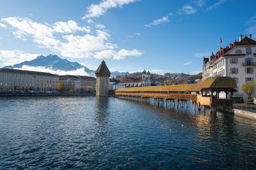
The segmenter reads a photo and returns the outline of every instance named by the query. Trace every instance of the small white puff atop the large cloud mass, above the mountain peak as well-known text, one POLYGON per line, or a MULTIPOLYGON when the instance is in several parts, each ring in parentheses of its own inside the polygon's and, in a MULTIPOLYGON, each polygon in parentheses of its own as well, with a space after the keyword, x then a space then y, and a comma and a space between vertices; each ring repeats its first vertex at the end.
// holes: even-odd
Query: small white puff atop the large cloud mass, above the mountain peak
POLYGON ((55 32, 61 33, 72 33, 76 31, 91 32, 90 27, 79 27, 74 20, 68 20, 68 22, 55 22, 53 29, 55 32))

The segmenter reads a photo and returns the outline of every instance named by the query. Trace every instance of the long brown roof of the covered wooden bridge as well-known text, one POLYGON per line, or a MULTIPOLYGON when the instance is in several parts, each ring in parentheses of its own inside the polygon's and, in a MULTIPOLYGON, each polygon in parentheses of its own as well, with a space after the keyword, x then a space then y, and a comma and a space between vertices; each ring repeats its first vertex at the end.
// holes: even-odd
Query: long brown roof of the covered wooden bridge
MULTIPOLYGON (((236 81, 230 77, 207 78, 202 83, 186 85, 163 85, 117 89, 115 92, 199 92, 202 89, 234 89, 236 81)), ((234 89, 235 90, 235 89, 234 89)))

